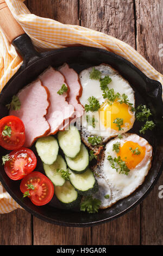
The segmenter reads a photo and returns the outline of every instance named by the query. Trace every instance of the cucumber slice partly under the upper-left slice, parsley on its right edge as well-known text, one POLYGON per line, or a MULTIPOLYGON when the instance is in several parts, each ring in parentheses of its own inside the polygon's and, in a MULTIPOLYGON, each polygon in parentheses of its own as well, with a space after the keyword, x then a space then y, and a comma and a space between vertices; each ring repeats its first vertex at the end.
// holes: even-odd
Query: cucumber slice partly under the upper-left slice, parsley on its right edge
POLYGON ((67 170, 66 162, 62 156, 58 155, 57 160, 53 164, 43 163, 43 169, 55 186, 64 185, 65 179, 57 172, 57 169, 67 170))

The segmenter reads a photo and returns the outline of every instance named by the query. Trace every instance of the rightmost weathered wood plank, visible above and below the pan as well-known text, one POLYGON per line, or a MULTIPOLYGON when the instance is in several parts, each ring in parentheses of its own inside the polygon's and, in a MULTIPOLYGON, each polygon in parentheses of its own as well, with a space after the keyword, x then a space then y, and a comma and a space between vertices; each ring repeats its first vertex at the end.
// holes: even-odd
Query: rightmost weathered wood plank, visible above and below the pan
MULTIPOLYGON (((136 0, 137 51, 154 68, 163 72, 163 57, 159 56, 159 45, 163 44, 162 0, 136 0)), ((141 204, 142 245, 163 244, 163 199, 159 198, 159 186, 163 184, 161 175, 154 190, 141 204)))

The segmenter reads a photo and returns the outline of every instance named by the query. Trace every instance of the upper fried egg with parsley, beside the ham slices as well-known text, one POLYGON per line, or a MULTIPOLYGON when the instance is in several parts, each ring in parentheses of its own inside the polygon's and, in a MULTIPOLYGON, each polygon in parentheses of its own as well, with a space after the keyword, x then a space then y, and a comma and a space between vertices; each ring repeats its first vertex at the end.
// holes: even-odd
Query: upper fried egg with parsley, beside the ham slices
MULTIPOLYGON (((95 66, 94 68, 101 71, 101 78, 104 78, 105 76, 111 78, 111 82, 108 84, 109 89, 114 89, 115 94, 119 93, 121 96, 123 94, 127 95, 128 101, 133 107, 135 106, 134 90, 118 71, 105 64, 95 66)), ((85 136, 101 136, 103 137, 103 141, 108 141, 109 138, 127 132, 133 127, 135 113, 131 111, 131 108, 127 103, 120 103, 115 100, 110 105, 108 99, 104 99, 103 97, 100 81, 90 78, 91 71, 92 67, 83 70, 79 74, 80 82, 83 87, 80 102, 83 106, 86 104, 89 105, 88 99, 93 96, 98 100, 100 108, 95 112, 85 111, 82 117, 82 131, 85 133, 85 136), (88 118, 90 118, 90 120, 94 118, 94 124, 88 121, 88 118), (115 123, 117 118, 123 119, 121 127, 115 123)))

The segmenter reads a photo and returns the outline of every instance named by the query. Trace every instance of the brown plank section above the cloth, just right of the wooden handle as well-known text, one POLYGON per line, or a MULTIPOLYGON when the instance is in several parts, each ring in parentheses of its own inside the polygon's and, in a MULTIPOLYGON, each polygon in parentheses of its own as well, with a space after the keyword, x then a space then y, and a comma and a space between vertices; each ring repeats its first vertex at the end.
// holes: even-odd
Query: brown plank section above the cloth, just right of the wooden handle
POLYGON ((28 0, 28 8, 35 15, 79 25, 78 0, 28 0))

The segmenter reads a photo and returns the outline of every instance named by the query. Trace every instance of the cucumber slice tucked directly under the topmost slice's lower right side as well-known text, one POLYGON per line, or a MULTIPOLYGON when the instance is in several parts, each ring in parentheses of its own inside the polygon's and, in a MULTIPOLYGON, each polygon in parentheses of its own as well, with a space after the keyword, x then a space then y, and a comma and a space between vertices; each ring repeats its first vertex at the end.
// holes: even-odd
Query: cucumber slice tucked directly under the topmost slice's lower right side
POLYGON ((89 153, 82 143, 80 151, 76 157, 71 159, 70 157, 65 156, 68 167, 76 173, 85 172, 86 168, 89 166, 89 153))

